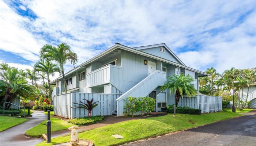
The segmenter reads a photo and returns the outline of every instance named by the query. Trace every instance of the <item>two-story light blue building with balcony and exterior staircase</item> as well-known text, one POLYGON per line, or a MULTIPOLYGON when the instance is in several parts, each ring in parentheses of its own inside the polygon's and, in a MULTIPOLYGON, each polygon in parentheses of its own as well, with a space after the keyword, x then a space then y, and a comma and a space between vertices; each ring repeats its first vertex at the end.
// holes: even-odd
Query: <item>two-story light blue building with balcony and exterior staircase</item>
MULTIPOLYGON (((197 56, 199 57, 199 56, 197 56)), ((91 99, 99 101, 93 115, 123 115, 124 99, 149 96, 156 99, 156 111, 174 104, 174 94, 160 92, 166 76, 189 74, 198 91, 198 77, 209 74, 186 66, 165 43, 142 47, 116 45, 65 73, 67 91, 64 93, 62 76, 51 84, 53 89, 54 114, 66 118, 86 116, 86 110, 70 108, 72 102, 91 99), (55 112, 56 111, 56 112, 55 112), (63 113, 65 112, 65 114, 63 113)))

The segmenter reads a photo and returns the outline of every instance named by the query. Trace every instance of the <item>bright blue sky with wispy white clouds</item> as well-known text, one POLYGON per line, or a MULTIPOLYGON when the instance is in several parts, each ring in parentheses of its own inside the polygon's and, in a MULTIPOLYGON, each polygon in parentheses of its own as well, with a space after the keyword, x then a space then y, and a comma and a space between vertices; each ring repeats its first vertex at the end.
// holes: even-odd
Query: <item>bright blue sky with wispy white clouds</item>
MULTIPOLYGON (((189 67, 256 66, 256 0, 0 0, 0 62, 32 69, 44 44, 68 43, 79 62, 120 42, 166 43, 189 67)), ((72 69, 66 65, 65 71, 72 69)))

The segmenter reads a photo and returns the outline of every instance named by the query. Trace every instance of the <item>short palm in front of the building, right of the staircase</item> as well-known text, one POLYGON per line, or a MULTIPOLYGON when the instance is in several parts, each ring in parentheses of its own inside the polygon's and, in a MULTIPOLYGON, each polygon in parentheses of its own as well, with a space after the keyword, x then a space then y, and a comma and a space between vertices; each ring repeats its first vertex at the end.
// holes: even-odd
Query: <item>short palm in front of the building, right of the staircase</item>
POLYGON ((166 89, 170 89, 170 94, 174 92, 175 94, 175 104, 176 106, 179 103, 180 96, 188 95, 189 97, 195 96, 197 91, 194 88, 192 82, 194 79, 187 75, 184 76, 183 74, 176 75, 174 74, 173 77, 167 77, 169 80, 165 82, 165 84, 160 88, 161 91, 165 91, 166 89))

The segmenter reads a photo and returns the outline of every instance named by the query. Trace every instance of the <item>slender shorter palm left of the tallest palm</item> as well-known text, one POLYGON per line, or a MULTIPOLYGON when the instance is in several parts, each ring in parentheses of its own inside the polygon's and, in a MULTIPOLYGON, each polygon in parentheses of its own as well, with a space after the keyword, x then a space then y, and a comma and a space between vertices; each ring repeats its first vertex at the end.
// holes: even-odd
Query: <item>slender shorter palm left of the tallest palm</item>
POLYGON ((55 72, 60 73, 60 68, 57 64, 54 64, 50 61, 38 61, 35 66, 34 70, 37 72, 45 73, 48 80, 49 86, 49 96, 50 96, 50 103, 52 104, 52 96, 51 96, 51 87, 50 87, 50 75, 54 76, 55 72))

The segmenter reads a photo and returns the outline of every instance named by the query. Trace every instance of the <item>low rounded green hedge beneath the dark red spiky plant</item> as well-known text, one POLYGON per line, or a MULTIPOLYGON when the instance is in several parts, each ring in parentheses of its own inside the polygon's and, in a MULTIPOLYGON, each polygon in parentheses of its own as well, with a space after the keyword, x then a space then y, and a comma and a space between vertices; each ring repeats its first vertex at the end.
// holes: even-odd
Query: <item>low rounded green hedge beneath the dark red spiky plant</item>
POLYGON ((68 120, 68 123, 76 124, 76 125, 89 125, 97 122, 101 122, 104 120, 104 116, 91 116, 91 117, 83 117, 68 120))

